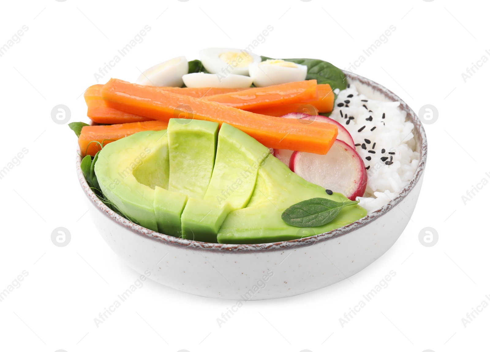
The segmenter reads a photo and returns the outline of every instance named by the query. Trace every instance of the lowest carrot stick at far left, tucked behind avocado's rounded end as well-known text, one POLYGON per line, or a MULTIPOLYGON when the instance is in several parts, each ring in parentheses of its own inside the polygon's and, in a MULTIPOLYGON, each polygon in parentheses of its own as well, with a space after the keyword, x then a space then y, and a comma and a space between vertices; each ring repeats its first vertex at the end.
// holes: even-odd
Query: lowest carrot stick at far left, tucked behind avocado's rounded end
POLYGON ((82 156, 94 156, 107 143, 141 131, 159 131, 167 128, 164 121, 133 122, 118 125, 83 126, 78 145, 82 156))

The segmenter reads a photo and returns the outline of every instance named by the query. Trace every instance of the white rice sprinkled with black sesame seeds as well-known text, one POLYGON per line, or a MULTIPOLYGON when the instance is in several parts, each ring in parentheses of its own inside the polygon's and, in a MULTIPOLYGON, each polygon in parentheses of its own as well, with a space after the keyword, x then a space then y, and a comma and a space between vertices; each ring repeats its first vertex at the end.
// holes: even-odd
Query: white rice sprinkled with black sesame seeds
POLYGON ((364 197, 358 197, 357 200, 369 214, 391 201, 414 176, 420 157, 419 153, 414 151, 414 125, 405 121, 407 113, 398 108, 398 101, 368 99, 359 94, 353 84, 343 91, 336 90, 335 93, 338 97, 330 118, 340 122, 352 135, 357 145, 356 151, 368 169, 366 192, 364 197), (350 95, 352 97, 348 97, 350 95), (343 106, 338 106, 342 103, 343 106), (349 117, 354 119, 350 119, 347 124, 349 117), (372 121, 369 121, 370 117, 372 121), (359 132, 363 126, 365 127, 359 132), (371 131, 373 127, 376 128, 371 131), (363 144, 366 149, 363 148, 363 144), (369 150, 375 153, 369 153, 369 150), (383 161, 382 157, 386 160, 383 161))

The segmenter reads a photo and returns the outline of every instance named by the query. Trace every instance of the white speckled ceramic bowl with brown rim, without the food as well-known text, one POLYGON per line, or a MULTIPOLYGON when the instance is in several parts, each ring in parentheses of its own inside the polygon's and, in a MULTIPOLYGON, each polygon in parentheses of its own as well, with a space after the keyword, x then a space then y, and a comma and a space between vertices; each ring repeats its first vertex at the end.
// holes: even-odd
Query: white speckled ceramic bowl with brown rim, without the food
POLYGON ((422 186, 427 159, 425 132, 414 111, 381 85, 346 73, 349 83, 371 99, 400 101, 414 125, 420 153, 415 176, 390 203, 336 230, 293 241, 227 245, 183 240, 138 226, 105 206, 76 168, 100 235, 138 273, 194 295, 264 300, 317 290, 350 277, 379 258, 407 225, 422 186))

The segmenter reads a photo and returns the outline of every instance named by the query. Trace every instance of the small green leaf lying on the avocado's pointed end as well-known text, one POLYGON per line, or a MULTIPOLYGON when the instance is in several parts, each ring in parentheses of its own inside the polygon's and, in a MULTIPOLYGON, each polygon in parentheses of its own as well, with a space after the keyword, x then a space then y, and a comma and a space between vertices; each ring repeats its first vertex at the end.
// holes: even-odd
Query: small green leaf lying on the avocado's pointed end
POLYGON ((358 201, 332 201, 326 198, 312 198, 291 205, 281 215, 291 226, 316 227, 334 220, 344 206, 355 205, 358 201))

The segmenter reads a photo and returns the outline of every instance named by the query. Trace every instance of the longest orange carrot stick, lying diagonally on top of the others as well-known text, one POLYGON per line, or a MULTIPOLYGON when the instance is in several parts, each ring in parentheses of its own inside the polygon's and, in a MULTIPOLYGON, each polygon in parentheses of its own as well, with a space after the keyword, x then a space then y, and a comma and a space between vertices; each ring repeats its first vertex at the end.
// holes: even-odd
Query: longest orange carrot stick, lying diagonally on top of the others
POLYGON ((188 118, 227 123, 269 148, 326 154, 338 133, 331 124, 254 114, 114 78, 102 88, 102 97, 112 108, 165 122, 187 114, 188 118))

